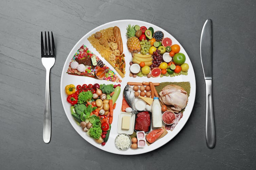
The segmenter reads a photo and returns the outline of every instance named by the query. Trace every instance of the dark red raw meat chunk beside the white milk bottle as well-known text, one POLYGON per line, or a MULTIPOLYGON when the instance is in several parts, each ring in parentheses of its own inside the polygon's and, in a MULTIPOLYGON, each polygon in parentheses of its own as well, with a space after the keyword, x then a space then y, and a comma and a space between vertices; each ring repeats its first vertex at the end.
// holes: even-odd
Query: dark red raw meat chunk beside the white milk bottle
POLYGON ((135 130, 137 131, 149 131, 150 115, 148 112, 140 112, 137 114, 135 121, 135 130))

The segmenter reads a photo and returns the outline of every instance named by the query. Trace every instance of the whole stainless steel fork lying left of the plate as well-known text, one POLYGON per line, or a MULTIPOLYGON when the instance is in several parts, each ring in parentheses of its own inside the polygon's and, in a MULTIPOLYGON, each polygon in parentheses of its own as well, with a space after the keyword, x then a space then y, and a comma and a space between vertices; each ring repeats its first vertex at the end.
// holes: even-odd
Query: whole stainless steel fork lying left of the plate
POLYGON ((50 87, 49 87, 49 77, 50 70, 55 63, 55 46, 52 33, 52 48, 50 41, 50 34, 48 31, 48 43, 46 31, 44 32, 44 43, 43 47, 43 32, 41 32, 41 59, 42 64, 46 69, 46 83, 45 83, 45 101, 44 101, 44 115, 43 115, 43 141, 49 143, 51 139, 51 102, 50 102, 50 87), (48 47, 47 47, 48 44, 48 47))

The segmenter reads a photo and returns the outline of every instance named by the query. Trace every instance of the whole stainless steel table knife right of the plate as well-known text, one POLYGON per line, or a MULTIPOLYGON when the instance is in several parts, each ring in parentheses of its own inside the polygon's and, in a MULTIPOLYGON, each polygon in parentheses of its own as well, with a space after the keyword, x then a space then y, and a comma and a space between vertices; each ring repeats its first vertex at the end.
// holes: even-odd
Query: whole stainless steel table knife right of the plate
POLYGON ((205 135, 208 148, 215 146, 215 124, 213 112, 213 96, 212 96, 212 60, 213 60, 213 44, 212 44, 212 20, 207 19, 204 23, 201 41, 201 62, 204 72, 205 89, 206 89, 206 124, 205 135))

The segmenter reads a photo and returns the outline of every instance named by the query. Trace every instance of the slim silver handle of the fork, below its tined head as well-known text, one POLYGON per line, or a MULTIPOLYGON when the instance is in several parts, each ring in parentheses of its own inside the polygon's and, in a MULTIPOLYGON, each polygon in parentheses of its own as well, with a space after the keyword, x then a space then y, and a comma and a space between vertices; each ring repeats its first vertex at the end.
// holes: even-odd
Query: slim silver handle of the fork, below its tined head
POLYGON ((43 141, 49 143, 51 139, 51 102, 49 87, 50 69, 46 69, 45 101, 43 115, 43 141))

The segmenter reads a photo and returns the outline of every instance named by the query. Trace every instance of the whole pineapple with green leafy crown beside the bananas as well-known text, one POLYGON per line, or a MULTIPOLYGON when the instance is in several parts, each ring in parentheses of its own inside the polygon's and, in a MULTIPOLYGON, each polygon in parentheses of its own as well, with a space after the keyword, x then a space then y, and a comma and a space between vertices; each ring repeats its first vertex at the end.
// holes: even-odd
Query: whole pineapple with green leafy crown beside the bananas
POLYGON ((136 31, 134 26, 131 26, 131 24, 129 24, 126 30, 127 30, 126 36, 128 37, 128 40, 127 40, 128 50, 131 53, 138 53, 141 50, 141 45, 140 45, 140 40, 137 37, 135 37, 136 31))

